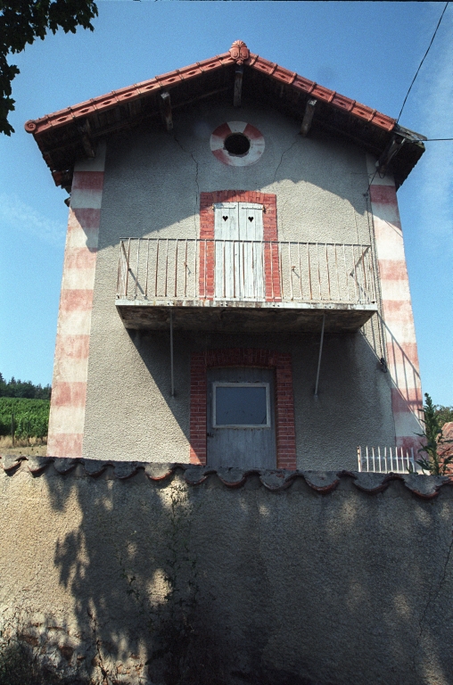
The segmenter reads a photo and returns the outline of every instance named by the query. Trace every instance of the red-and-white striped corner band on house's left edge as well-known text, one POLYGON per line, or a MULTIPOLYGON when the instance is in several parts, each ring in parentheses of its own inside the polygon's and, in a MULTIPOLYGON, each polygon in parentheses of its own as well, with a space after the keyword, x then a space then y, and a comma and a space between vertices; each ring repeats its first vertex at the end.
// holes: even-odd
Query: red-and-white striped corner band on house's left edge
POLYGON ((81 457, 105 144, 74 169, 58 312, 47 454, 81 457))

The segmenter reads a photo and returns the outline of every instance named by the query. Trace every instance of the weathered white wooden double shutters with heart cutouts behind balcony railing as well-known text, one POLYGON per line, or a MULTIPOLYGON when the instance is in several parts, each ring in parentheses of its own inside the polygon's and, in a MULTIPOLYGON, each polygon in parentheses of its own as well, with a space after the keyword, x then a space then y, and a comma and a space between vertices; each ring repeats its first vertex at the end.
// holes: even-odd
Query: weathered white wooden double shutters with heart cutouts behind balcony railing
POLYGON ((214 205, 215 296, 263 300, 263 207, 252 202, 214 205))

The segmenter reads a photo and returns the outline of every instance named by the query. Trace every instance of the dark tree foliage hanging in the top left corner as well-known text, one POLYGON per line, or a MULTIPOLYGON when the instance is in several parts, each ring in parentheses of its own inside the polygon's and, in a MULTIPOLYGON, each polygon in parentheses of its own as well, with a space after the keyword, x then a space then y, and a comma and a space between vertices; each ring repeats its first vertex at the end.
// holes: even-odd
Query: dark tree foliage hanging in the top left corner
POLYGON ((94 0, 0 0, 0 133, 14 132, 8 114, 14 110, 12 79, 20 72, 8 55, 21 53, 36 38, 44 40, 47 30, 75 33, 81 26, 93 31, 95 16, 94 0))

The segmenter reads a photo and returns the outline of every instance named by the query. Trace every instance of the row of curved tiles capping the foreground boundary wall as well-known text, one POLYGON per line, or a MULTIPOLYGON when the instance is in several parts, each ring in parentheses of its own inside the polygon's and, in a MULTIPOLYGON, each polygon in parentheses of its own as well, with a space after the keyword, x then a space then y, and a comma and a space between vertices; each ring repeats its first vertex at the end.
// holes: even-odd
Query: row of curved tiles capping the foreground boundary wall
MULTIPOLYGON (((16 457, 0 456, 0 466, 8 475, 14 475, 22 466, 32 475, 41 475, 48 466, 54 466, 56 474, 70 474, 76 466, 81 466, 85 474, 95 478, 111 467, 110 477, 119 481, 127 480, 144 472, 153 482, 169 480, 177 470, 184 474, 189 485, 200 485, 209 475, 217 475, 218 480, 227 488, 240 488, 253 475, 259 476, 260 483, 269 491, 284 491, 295 480, 302 479, 309 488, 321 494, 333 492, 342 478, 352 478, 352 482, 362 492, 377 494, 386 490, 393 481, 400 481, 422 499, 437 497, 444 485, 453 485, 448 476, 431 476, 416 474, 369 474, 352 471, 287 471, 284 469, 261 470, 240 468, 210 468, 194 464, 168 463, 160 464, 148 461, 102 461, 86 458, 61 457, 16 457)), ((79 472, 78 472, 79 473, 79 472)))

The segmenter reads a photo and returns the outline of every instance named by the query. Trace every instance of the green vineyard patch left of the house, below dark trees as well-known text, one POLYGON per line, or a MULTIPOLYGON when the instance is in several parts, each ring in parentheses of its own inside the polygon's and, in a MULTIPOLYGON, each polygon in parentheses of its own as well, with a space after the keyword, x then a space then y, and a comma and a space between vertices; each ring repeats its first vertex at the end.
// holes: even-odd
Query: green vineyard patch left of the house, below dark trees
POLYGON ((0 397, 0 435, 11 435, 12 414, 16 438, 44 438, 49 427, 50 400, 0 397))

